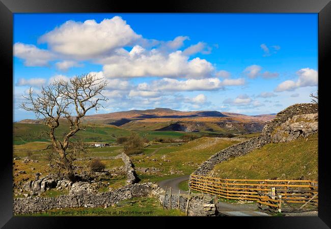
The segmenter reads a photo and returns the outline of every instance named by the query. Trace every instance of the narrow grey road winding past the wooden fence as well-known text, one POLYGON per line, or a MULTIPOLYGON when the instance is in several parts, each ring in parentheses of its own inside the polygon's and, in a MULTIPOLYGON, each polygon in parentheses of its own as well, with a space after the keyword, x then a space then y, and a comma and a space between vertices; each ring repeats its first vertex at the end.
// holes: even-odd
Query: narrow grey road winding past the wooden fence
MULTIPOLYGON (((161 188, 171 187, 172 193, 178 193, 179 183, 189 179, 189 175, 171 178, 163 181, 159 181, 158 185, 161 188)), ((181 193, 187 193, 180 190, 181 193)), ((264 212, 256 211, 256 204, 230 204, 225 202, 218 202, 217 210, 220 215, 224 216, 268 216, 264 212)))

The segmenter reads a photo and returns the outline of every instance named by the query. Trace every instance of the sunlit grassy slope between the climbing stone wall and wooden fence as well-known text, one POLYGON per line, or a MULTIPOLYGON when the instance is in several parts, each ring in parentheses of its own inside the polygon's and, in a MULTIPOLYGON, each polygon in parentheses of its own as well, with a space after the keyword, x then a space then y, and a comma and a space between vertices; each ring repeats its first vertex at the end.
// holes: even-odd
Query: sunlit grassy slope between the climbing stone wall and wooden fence
POLYGON ((217 164, 215 177, 231 179, 318 180, 318 135, 267 144, 253 152, 217 164))

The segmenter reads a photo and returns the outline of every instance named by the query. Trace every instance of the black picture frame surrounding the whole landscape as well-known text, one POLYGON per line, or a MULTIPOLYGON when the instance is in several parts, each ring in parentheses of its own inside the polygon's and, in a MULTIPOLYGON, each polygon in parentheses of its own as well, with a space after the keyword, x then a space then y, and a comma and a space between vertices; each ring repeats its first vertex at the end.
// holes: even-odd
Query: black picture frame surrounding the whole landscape
MULTIPOLYGON (((8 150, 3 147, 0 159, 2 170, 1 176, 1 213, 0 226, 3 228, 65 228, 69 222, 75 221, 75 227, 80 224, 86 227, 94 223, 94 227, 100 226, 101 221, 107 227, 117 223, 136 223, 144 227, 172 226, 169 220, 181 220, 184 223, 195 224, 202 221, 209 226, 215 223, 218 226, 229 225, 243 226, 244 228, 330 228, 331 227, 331 204, 330 204, 330 166, 327 150, 327 78, 330 77, 329 63, 331 53, 331 3, 329 0, 222 0, 222 1, 192 1, 177 0, 163 2, 127 2, 127 1, 102 1, 102 0, 0 0, 0 63, 2 65, 3 82, 3 146, 8 145, 8 150), (319 73, 319 141, 318 141, 318 171, 319 171, 319 211, 318 217, 149 217, 143 220, 140 217, 109 218, 109 217, 13 217, 12 214, 12 131, 13 123, 9 120, 8 107, 13 106, 5 95, 5 89, 13 85, 13 13, 124 13, 124 12, 155 12, 155 13, 318 13, 318 73, 319 73), (7 86, 8 85, 8 86, 7 86), (6 124, 6 125, 4 125, 6 124), (325 137, 326 136, 326 137, 325 137), (8 139, 8 140, 6 140, 8 139), (11 150, 11 152, 10 152, 11 150), (91 218, 93 220, 91 220, 91 218), (97 222, 96 222, 97 220, 97 222), (154 222, 151 222, 154 221, 154 222), (111 224, 109 224, 111 223, 111 224), (156 223, 156 224, 155 224, 156 223)), ((8 96, 9 97, 9 96, 8 96)), ((14 108, 14 107, 13 107, 14 108)), ((174 226, 176 226, 175 224, 174 226)), ((118 225, 120 226, 120 225, 118 225)), ((186 226, 186 225, 185 225, 186 226)))

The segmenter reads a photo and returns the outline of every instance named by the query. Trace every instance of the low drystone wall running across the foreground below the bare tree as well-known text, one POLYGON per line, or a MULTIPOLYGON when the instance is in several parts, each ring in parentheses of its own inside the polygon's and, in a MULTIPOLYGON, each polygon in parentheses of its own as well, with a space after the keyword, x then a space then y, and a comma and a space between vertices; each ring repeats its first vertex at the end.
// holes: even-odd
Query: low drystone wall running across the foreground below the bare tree
POLYGON ((50 209, 63 209, 63 208, 106 208, 123 199, 133 197, 148 196, 155 188, 152 183, 131 184, 126 185, 120 189, 93 193, 89 191, 89 185, 83 184, 84 188, 79 188, 82 184, 77 182, 73 185, 74 192, 69 195, 61 195, 57 197, 40 197, 30 196, 26 198, 16 198, 13 200, 13 213, 14 214, 27 214, 31 212, 44 212, 50 209))

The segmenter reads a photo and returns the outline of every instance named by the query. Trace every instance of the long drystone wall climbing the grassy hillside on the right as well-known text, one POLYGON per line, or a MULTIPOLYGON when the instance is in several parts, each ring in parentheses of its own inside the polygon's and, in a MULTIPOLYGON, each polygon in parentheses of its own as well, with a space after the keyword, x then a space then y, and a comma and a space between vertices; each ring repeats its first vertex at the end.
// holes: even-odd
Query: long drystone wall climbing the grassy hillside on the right
POLYGON ((192 174, 206 176, 219 162, 228 160, 231 157, 245 155, 247 153, 250 153, 254 149, 260 148, 270 143, 272 140, 271 135, 275 128, 279 127, 281 124, 287 122, 288 120, 291 120, 294 116, 314 113, 318 113, 317 104, 298 103, 289 106, 286 109, 280 111, 272 121, 266 123, 260 136, 240 142, 212 155, 208 160, 203 162, 192 174))

